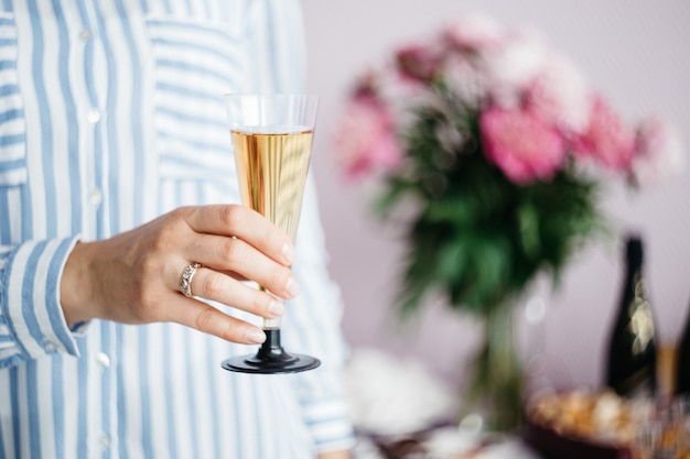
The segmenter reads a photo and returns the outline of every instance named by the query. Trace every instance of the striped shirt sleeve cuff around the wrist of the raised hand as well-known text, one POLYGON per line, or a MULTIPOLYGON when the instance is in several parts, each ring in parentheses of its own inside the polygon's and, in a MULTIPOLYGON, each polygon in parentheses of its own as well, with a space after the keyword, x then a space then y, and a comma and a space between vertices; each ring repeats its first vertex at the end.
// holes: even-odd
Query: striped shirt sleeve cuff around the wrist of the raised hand
POLYGON ((60 303, 76 238, 0 247, 0 368, 64 352, 78 356, 60 303))

